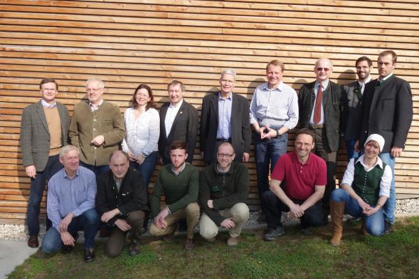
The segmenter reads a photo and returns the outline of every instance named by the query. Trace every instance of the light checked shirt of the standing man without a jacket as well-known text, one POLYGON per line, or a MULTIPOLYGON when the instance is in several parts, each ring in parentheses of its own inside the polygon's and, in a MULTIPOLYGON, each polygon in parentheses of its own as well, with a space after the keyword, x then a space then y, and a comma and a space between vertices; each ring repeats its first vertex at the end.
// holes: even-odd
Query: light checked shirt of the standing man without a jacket
POLYGON ((269 89, 267 82, 256 87, 250 103, 250 123, 259 126, 286 126, 292 129, 298 123, 297 93, 281 82, 269 89))

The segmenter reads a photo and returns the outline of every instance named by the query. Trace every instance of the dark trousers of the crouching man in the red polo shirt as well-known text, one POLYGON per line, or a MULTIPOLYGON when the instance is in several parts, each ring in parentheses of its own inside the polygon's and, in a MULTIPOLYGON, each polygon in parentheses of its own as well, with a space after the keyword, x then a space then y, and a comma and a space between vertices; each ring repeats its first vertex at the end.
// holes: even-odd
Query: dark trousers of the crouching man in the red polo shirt
MULTIPOLYGON (((268 190, 263 193, 263 212, 265 212, 267 227, 274 229, 281 227, 281 216, 282 211, 288 212, 290 208, 281 202, 281 199, 277 197, 272 191, 268 190)), ((295 204, 303 204, 304 200, 291 199, 295 204)), ((307 227, 318 226, 323 224, 323 208, 321 202, 317 202, 313 206, 309 207, 304 211, 304 215, 300 217, 301 227, 305 229, 307 227)))

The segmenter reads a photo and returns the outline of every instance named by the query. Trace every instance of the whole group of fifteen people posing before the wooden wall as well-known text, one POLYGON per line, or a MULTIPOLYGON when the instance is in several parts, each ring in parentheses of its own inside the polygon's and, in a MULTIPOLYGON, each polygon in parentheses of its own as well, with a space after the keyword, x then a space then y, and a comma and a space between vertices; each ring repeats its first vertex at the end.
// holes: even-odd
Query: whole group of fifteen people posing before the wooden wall
POLYGON ((235 246, 249 218, 249 161, 253 130, 258 193, 267 222, 266 241, 284 234, 281 213, 300 218, 302 233, 328 223, 330 214, 338 246, 344 212, 362 217, 363 232, 392 232, 395 211, 395 158, 400 156, 413 118, 409 83, 396 77, 397 55, 378 55, 378 78, 372 61, 355 62, 358 80, 340 86, 329 80, 333 66, 318 59, 316 80, 299 94, 282 82, 284 64, 267 63, 267 82, 248 100, 233 93, 235 71, 223 70, 220 90, 203 98, 200 152, 206 167, 193 166, 198 112, 184 100, 185 86, 168 84, 170 102, 156 110, 152 89, 135 89, 124 117, 103 100, 104 84, 86 82, 87 99, 69 116, 56 102, 58 84, 41 81, 41 100, 22 114, 20 146, 31 178, 27 210, 28 246, 38 247, 40 203, 48 182, 44 252, 69 252, 84 230, 84 260, 94 259, 94 237, 110 227, 108 257, 117 257, 131 231, 128 252, 140 250, 143 224, 151 214, 150 234, 170 240, 186 219, 185 250, 194 247, 194 229, 214 241, 219 227, 229 230, 235 246), (287 153, 288 131, 300 123, 295 151, 287 153), (337 151, 346 142, 348 168, 335 189, 337 151), (150 178, 163 167, 147 195, 150 178), (269 176, 271 180, 269 181, 269 176), (164 205, 161 199, 164 196, 164 205), (202 213, 200 213, 202 211, 202 213))

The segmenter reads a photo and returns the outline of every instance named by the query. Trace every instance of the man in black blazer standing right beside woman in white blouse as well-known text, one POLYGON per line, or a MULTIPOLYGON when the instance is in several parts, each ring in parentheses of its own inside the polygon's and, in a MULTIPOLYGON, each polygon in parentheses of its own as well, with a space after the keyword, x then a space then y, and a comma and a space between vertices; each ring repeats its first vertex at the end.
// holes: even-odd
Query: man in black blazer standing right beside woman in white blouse
POLYGON ((163 165, 170 163, 170 144, 186 142, 186 161, 192 163, 193 151, 198 137, 198 111, 183 99, 185 86, 178 80, 168 84, 170 103, 164 103, 160 108, 159 153, 163 165))

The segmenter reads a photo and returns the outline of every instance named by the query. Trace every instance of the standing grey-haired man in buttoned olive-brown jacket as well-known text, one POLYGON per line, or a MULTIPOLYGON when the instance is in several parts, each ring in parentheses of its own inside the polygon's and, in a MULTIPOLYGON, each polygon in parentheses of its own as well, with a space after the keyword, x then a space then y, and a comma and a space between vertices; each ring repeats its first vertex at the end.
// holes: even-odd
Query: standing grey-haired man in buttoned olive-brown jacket
POLYGON ((125 128, 119 107, 103 100, 104 84, 98 78, 86 82, 87 100, 75 105, 71 117, 71 144, 80 150, 80 165, 96 176, 109 169, 110 153, 119 149, 125 128))

